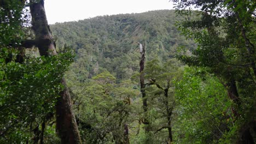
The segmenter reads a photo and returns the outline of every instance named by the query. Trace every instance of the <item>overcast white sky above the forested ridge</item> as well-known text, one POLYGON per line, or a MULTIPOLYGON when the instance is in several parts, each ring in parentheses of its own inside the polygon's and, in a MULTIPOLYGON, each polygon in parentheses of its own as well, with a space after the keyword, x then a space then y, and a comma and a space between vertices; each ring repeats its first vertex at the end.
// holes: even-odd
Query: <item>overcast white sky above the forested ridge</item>
POLYGON ((169 0, 45 0, 49 24, 77 21, 100 15, 142 13, 172 9, 169 0))

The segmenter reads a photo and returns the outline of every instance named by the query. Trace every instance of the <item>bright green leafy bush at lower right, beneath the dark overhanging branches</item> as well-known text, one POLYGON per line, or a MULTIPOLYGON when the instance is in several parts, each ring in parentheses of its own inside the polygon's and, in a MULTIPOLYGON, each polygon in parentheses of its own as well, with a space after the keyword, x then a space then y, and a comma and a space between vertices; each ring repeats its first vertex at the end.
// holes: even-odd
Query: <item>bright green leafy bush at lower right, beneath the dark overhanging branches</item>
POLYGON ((175 92, 179 115, 174 124, 177 143, 218 143, 226 129, 234 127, 225 88, 205 69, 185 68, 175 92))

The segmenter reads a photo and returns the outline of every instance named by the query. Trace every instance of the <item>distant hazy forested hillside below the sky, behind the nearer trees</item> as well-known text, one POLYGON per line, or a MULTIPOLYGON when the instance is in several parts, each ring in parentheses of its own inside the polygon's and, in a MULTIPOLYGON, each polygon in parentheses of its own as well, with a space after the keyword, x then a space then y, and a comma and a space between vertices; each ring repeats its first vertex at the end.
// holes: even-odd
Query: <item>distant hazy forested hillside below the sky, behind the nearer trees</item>
POLYGON ((174 58, 178 46, 195 48, 193 41, 185 40, 175 27, 175 23, 182 19, 174 10, 158 10, 98 16, 50 27, 57 46, 67 44, 75 49, 77 57, 72 69, 80 81, 98 74, 98 67, 106 68, 118 80, 123 80, 138 71, 137 43, 145 43, 148 60, 174 58))

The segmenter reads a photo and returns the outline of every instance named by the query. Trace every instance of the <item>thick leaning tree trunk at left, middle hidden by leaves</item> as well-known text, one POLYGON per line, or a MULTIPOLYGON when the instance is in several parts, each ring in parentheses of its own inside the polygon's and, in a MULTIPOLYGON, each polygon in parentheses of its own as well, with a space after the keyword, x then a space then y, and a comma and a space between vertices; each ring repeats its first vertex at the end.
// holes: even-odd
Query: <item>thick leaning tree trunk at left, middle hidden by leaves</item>
MULTIPOLYGON (((55 43, 51 35, 50 28, 46 19, 44 10, 44 1, 30 1, 30 10, 32 15, 32 29, 36 35, 36 46, 39 49, 41 56, 57 55, 55 43)), ((61 97, 56 104, 56 124, 57 132, 61 137, 61 143, 82 143, 77 123, 72 112, 72 101, 69 95, 66 81, 63 78, 61 81, 65 89, 60 93, 61 97)))

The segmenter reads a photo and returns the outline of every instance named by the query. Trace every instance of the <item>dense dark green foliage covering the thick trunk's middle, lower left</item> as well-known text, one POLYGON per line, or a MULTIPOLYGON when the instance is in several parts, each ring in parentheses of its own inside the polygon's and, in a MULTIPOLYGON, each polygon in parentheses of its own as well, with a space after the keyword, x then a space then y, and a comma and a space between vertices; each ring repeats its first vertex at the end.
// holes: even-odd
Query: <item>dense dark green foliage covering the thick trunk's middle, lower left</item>
POLYGON ((72 56, 62 53, 26 59, 22 64, 5 63, 8 50, 1 50, 0 141, 21 143, 32 136, 28 128, 31 124, 41 123, 48 113, 55 111, 57 97, 63 89, 60 83, 63 71, 72 62, 72 56), (22 137, 13 136, 19 136, 19 131, 22 137))

